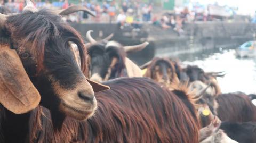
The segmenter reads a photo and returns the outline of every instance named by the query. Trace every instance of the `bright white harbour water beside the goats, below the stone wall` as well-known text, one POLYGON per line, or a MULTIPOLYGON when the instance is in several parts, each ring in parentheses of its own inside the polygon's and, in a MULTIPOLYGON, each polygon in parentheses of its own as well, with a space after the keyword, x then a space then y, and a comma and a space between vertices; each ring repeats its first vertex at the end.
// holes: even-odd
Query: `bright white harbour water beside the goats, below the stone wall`
POLYGON ((256 58, 238 59, 234 49, 192 57, 194 59, 190 58, 189 61, 182 60, 183 63, 198 65, 206 72, 225 71, 225 77, 217 79, 223 93, 236 91, 246 94, 256 93, 256 58))

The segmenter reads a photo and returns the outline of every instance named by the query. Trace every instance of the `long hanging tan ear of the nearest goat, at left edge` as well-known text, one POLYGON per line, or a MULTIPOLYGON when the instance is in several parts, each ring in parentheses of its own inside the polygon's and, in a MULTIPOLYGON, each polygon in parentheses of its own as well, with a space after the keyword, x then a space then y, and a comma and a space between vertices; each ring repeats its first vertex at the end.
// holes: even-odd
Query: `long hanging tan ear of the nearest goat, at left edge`
POLYGON ((0 103, 15 114, 36 108, 41 96, 30 81, 15 50, 1 46, 0 103))

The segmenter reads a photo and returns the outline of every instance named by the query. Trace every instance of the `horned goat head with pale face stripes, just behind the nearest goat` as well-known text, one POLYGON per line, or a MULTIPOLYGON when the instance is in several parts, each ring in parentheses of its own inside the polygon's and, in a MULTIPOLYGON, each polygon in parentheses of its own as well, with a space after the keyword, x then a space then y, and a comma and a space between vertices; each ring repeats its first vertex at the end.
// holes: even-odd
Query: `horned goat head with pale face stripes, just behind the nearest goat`
MULTIPOLYGON (((91 45, 88 47, 89 68, 85 75, 94 81, 107 81, 119 77, 142 77, 140 68, 126 57, 126 53, 140 51, 149 43, 123 46, 116 41, 95 41, 88 31, 86 36, 91 45)), ((106 39, 106 38, 105 38, 106 39)), ((108 38, 107 38, 108 39, 108 38)))

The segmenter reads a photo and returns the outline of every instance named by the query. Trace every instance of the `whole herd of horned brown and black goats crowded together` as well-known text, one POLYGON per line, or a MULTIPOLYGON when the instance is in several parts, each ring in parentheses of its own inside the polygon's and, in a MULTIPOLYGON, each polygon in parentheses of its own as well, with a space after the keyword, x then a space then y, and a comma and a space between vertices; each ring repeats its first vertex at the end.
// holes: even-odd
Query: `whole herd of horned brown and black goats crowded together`
POLYGON ((61 20, 83 6, 0 14, 0 142, 256 142, 256 95, 221 94, 217 77, 169 58, 137 66, 113 35, 61 20))

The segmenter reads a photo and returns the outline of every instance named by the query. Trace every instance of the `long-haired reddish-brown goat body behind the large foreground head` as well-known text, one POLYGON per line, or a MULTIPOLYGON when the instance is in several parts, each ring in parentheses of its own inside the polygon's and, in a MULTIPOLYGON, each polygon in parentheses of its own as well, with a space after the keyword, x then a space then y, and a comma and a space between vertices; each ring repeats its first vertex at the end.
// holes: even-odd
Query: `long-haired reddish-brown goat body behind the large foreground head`
MULTIPOLYGON (((95 94, 98 110, 90 119, 77 121, 66 117, 62 128, 55 130, 49 110, 37 107, 30 112, 28 133, 23 134, 24 138, 27 142, 46 143, 198 142, 199 122, 185 92, 171 92, 148 78, 121 78, 105 84, 111 89, 95 94)), ((12 122, 25 120, 25 117, 17 115, 10 119, 5 111, 0 112, 7 114, 1 116, 5 129, 2 134, 6 137, 6 130, 11 131, 5 142, 20 142, 13 138, 13 132, 20 129, 12 126, 12 122)))

